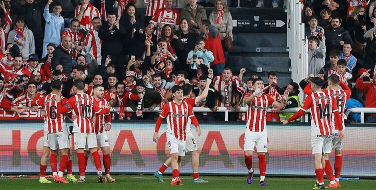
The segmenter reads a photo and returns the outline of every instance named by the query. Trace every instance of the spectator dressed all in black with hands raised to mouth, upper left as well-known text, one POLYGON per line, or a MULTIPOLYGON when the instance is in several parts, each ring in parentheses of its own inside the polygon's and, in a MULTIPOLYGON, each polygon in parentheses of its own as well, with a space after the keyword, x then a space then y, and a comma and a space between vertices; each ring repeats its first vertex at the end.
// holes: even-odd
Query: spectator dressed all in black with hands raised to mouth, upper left
MULTIPOLYGON (((116 20, 115 12, 107 13, 107 22, 105 22, 98 32, 99 38, 102 39, 101 55, 102 57, 111 56, 111 62, 115 65, 116 75, 119 78, 124 77, 125 60, 128 59, 124 54, 124 43, 121 39, 125 34, 124 27, 116 20)), ((102 64, 104 64, 102 59, 102 64)))

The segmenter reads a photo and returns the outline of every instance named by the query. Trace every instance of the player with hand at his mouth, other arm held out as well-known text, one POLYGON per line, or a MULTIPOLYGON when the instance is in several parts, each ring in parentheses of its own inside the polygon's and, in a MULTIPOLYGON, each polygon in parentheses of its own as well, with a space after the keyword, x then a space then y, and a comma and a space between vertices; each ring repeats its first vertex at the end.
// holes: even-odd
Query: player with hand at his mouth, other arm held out
POLYGON ((247 110, 247 124, 244 137, 244 157, 246 166, 248 168, 247 183, 253 182, 253 168, 252 168, 252 154, 256 146, 257 154, 259 157, 260 168, 260 186, 268 186, 265 182, 266 174, 266 157, 267 150, 267 131, 266 131, 266 113, 269 106, 280 108, 286 106, 288 98, 288 91, 282 96, 282 102, 275 101, 272 97, 263 94, 264 81, 261 78, 256 78, 252 81, 253 89, 252 94, 248 93, 244 96, 244 103, 248 105, 247 110))

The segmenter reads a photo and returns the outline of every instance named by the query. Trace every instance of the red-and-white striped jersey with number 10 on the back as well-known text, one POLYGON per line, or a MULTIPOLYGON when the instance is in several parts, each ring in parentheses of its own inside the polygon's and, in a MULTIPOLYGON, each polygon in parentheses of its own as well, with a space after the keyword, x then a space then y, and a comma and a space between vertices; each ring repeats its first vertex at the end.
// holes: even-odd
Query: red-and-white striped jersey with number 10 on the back
POLYGON ((93 111, 97 114, 109 112, 107 108, 99 107, 94 97, 86 93, 79 93, 70 97, 63 109, 65 109, 63 111, 72 110, 73 115, 77 115, 77 119, 74 120, 73 132, 81 133, 95 132, 93 111))

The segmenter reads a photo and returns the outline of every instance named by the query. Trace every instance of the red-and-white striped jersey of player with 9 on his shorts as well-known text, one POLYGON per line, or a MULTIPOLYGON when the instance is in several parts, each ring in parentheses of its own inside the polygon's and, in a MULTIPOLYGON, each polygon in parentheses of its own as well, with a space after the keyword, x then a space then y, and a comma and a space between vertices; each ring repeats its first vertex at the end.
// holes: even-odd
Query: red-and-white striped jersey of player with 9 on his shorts
POLYGON ((188 124, 188 118, 195 116, 192 106, 185 101, 177 104, 172 100, 164 104, 160 117, 167 117, 167 130, 166 132, 175 135, 176 139, 185 141, 185 130, 188 124))

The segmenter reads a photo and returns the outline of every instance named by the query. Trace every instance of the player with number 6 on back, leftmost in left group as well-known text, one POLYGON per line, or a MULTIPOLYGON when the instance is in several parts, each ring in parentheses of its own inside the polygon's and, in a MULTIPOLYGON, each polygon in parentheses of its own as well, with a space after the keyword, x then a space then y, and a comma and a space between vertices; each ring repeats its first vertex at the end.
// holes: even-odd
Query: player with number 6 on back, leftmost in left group
MULTIPOLYGON (((65 168, 68 165, 68 153, 70 149, 69 137, 67 126, 65 124, 65 115, 59 112, 58 101, 56 96, 60 96, 63 84, 59 80, 51 82, 52 92, 48 95, 40 97, 37 101, 37 105, 43 106, 45 109, 45 124, 47 126, 47 139, 49 147, 51 148, 51 168, 56 182, 68 183, 63 176, 65 168), (62 153, 60 159, 60 168, 57 172, 57 154, 59 149, 62 153)), ((66 103, 67 98, 62 98, 61 101, 66 103)), ((47 148, 46 148, 47 150, 47 148)), ((42 166, 41 166, 42 167, 42 166)), ((43 182, 43 179, 42 179, 43 182)))

